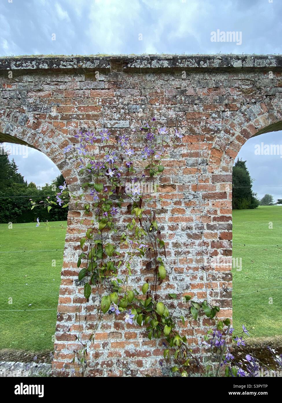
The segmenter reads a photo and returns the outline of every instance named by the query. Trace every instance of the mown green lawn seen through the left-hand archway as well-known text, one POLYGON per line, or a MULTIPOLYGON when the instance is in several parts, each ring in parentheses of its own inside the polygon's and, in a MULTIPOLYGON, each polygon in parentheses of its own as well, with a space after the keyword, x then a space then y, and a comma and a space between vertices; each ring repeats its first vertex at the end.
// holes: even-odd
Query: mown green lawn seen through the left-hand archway
POLYGON ((0 224, 0 310, 9 310, 0 312, 0 349, 53 349, 66 233, 61 223, 66 226, 50 222, 49 231, 35 223, 0 224))

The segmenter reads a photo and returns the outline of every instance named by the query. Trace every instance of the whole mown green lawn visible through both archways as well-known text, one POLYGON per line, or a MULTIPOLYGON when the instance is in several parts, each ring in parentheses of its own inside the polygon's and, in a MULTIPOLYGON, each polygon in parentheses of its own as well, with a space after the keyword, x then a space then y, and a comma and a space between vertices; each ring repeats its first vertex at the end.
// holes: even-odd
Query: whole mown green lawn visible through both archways
MULTIPOLYGON (((49 232, 35 223, 0 224, 0 310, 26 309, 1 312, 0 349, 53 349, 65 239, 60 224, 51 222, 49 232)), ((233 211, 233 256, 242 258, 241 272, 233 269, 233 321, 253 337, 282 334, 281 235, 282 207, 233 211)))

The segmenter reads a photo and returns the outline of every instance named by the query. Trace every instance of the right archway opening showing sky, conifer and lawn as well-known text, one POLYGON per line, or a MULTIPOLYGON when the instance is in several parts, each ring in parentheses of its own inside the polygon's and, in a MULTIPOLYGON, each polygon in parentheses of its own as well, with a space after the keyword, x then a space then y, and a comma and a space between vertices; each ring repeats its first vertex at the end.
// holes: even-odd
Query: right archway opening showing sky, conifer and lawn
POLYGON ((241 148, 235 166, 242 168, 245 161, 253 179, 250 185, 242 178, 239 189, 233 166, 233 197, 238 197, 241 190, 242 195, 250 197, 252 191, 259 200, 257 208, 244 203, 238 208, 238 202, 233 209, 233 325, 241 331, 244 324, 251 337, 262 338, 263 343, 282 335, 281 129, 282 122, 261 129, 241 148))

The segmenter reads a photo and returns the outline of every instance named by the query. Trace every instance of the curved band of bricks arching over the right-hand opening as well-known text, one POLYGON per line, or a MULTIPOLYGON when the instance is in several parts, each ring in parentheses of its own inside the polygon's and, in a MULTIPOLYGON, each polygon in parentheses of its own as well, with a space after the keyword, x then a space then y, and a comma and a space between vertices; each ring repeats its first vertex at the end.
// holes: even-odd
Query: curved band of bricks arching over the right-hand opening
POLYGON ((281 96, 243 105, 232 119, 224 122, 220 136, 216 137, 210 153, 210 170, 232 173, 234 160, 248 139, 279 130, 282 130, 281 96))

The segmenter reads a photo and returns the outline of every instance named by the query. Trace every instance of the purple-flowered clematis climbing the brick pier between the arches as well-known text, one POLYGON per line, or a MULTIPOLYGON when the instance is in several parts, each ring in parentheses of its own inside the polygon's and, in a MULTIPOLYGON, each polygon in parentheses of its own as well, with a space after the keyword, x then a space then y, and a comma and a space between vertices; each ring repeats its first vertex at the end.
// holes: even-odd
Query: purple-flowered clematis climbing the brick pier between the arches
MULTIPOLYGON (((155 118, 152 119, 154 121, 155 118)), ((97 321, 92 324, 90 337, 86 341, 81 334, 76 337, 81 349, 76 351, 74 361, 78 361, 83 374, 87 375, 88 345, 95 340, 103 315, 110 312, 123 316, 128 324, 137 322, 140 326, 146 325, 148 339, 162 338, 164 359, 172 359, 174 364, 172 372, 186 377, 191 364, 196 364, 203 371, 202 364, 187 345, 186 337, 177 331, 174 313, 179 304, 170 312, 167 301, 159 300, 158 288, 167 276, 166 249, 157 220, 159 198, 156 193, 147 192, 148 188, 155 189, 157 186, 154 181, 158 182, 158 177, 165 170, 162 162, 181 141, 181 131, 176 129, 172 135, 166 127, 157 128, 154 123, 151 126, 146 123, 139 132, 134 131, 134 149, 130 148, 127 135, 111 136, 105 128, 101 128, 97 135, 81 130, 74 137, 79 143, 68 145, 64 153, 78 161, 80 175, 85 178, 82 185, 84 193, 78 196, 71 194, 69 198, 64 183, 60 186, 56 203, 48 198, 43 201, 49 212, 54 204, 65 208, 75 200, 76 206, 80 203, 84 215, 90 218, 90 225, 80 239, 81 253, 77 267, 81 270, 78 280, 84 283, 86 312, 91 293, 96 293, 101 303, 97 307, 97 321), (127 212, 124 221, 121 219, 124 217, 124 214, 121 216, 122 210, 127 212), (127 224, 122 227, 120 222, 127 224), (144 258, 149 259, 152 274, 134 287, 131 282, 134 268, 144 258)), ((37 206, 35 202, 31 203, 32 208, 37 206)), ((40 220, 37 221, 39 226, 40 220)), ((171 293, 169 299, 176 300, 177 295, 171 293)), ((185 295, 185 303, 194 320, 202 313, 214 319, 216 330, 208 331, 204 344, 209 349, 217 348, 214 362, 221 364, 225 360, 225 364, 230 363, 231 359, 223 356, 228 348, 230 320, 218 319, 216 314, 220 308, 210 305, 208 299, 197 302, 185 295)), ((179 318, 185 324, 184 317, 178 315, 179 318)), ((86 314, 85 325, 87 322, 86 314)), ((226 376, 240 375, 237 367, 226 368, 230 368, 226 376)))

